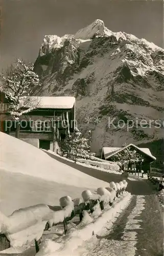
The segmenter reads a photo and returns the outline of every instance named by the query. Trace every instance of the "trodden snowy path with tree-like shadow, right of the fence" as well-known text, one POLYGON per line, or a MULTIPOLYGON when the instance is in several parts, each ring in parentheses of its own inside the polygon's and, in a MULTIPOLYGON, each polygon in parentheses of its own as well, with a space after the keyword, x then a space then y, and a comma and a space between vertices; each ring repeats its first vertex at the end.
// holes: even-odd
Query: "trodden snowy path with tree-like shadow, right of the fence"
POLYGON ((162 256, 163 221, 155 195, 133 196, 112 229, 79 247, 80 256, 162 256))

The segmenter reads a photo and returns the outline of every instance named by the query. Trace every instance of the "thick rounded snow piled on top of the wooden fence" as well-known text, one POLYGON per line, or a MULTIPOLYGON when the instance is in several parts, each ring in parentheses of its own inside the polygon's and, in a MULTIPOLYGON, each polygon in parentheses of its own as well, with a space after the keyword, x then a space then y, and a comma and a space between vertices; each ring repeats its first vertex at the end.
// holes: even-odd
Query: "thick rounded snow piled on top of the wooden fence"
MULTIPOLYGON (((114 185, 115 183, 111 182, 111 184, 114 185)), ((124 187, 123 182, 122 184, 124 187)), ((113 190, 114 193, 117 191, 117 189, 115 191, 112 188, 111 190, 113 190)), ((109 202, 111 203, 114 200, 111 190, 109 191, 108 188, 103 187, 99 187, 97 189, 97 198, 99 198, 100 202, 108 205, 109 202)), ((84 190, 81 195, 85 203, 89 203, 88 201, 96 196, 92 195, 90 190, 84 190)), ((75 199, 75 202, 80 202, 80 200, 82 199, 75 199)), ((53 224, 63 222, 64 218, 71 217, 72 212, 75 211, 74 201, 70 196, 61 197, 59 202, 61 208, 63 208, 62 210, 53 211, 52 206, 49 207, 46 204, 38 204, 15 210, 12 215, 8 217, 0 212, 0 232, 5 234, 7 239, 10 241, 11 247, 21 247, 31 243, 33 240, 38 241, 42 237, 42 233, 47 222, 50 227, 52 227, 53 224)), ((104 207, 102 209, 100 204, 96 202, 93 209, 92 217, 98 217, 102 215, 101 210, 103 210, 104 207)), ((77 215, 77 211, 75 215, 77 215)))

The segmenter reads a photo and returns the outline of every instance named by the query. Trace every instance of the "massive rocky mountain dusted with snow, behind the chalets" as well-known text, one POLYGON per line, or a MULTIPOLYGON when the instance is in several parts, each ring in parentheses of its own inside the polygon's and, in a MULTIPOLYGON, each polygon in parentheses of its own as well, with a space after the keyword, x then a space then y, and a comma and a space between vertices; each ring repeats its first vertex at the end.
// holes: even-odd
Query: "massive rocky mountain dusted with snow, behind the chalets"
POLYGON ((92 151, 163 137, 164 50, 153 43, 97 19, 75 35, 45 36, 34 68, 44 96, 76 97, 92 151))

